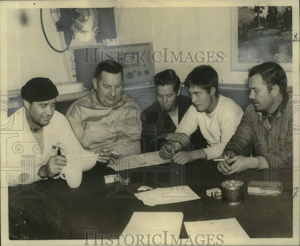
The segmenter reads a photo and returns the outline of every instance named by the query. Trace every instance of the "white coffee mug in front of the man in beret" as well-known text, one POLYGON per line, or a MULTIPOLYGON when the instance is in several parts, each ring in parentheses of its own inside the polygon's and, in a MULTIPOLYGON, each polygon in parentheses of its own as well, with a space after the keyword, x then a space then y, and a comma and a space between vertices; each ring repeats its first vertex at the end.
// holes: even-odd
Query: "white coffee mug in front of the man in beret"
POLYGON ((67 184, 70 186, 70 188, 77 188, 81 184, 82 169, 78 166, 65 166, 59 176, 67 181, 67 184))

